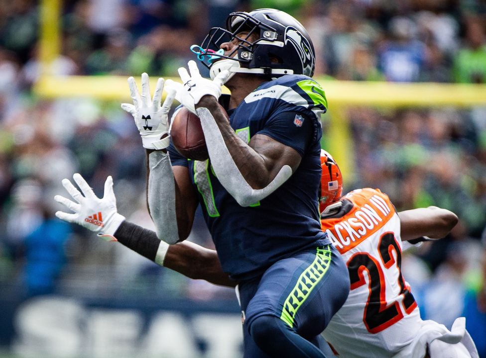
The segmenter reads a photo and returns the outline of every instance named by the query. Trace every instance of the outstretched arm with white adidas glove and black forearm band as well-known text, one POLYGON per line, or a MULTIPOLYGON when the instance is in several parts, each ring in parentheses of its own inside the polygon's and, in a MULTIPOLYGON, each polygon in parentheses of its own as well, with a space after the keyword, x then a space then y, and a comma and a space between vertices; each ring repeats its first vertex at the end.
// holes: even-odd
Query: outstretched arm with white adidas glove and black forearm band
POLYGON ((58 211, 56 216, 59 219, 81 225, 97 233, 105 241, 119 241, 156 264, 187 277, 229 287, 236 285, 236 282, 223 272, 216 251, 190 242, 168 245, 159 240, 154 231, 125 221, 117 210, 112 177, 106 180, 102 199, 95 195, 81 175, 75 174, 73 177, 84 195, 69 179, 63 179, 62 184, 74 201, 61 195, 56 195, 54 199, 74 213, 58 211))

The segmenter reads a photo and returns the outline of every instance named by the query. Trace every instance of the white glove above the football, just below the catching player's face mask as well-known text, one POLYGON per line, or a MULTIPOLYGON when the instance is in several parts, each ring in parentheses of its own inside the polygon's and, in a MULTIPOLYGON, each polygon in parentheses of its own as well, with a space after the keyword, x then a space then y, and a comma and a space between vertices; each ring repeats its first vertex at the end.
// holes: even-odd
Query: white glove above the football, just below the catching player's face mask
MULTIPOLYGON (((208 94, 218 99, 221 96, 221 87, 230 73, 228 70, 221 71, 218 76, 211 81, 201 76, 195 61, 189 61, 187 66, 189 67, 191 75, 187 73, 187 70, 184 67, 181 67, 178 70, 184 87, 181 89, 180 84, 175 85, 174 87, 178 90, 177 100, 191 112, 197 114, 194 105, 198 104, 201 98, 208 94)), ((169 87, 173 88, 173 84, 174 82, 171 81, 169 87)))

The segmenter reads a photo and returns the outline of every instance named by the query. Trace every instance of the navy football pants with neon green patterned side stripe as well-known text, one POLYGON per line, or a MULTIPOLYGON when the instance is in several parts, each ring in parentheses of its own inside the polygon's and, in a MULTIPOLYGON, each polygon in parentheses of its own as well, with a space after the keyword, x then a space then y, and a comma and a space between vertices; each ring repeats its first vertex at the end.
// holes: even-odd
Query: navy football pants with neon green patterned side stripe
POLYGON ((318 335, 349 291, 348 269, 332 245, 302 251, 241 281, 243 358, 324 358, 318 335))

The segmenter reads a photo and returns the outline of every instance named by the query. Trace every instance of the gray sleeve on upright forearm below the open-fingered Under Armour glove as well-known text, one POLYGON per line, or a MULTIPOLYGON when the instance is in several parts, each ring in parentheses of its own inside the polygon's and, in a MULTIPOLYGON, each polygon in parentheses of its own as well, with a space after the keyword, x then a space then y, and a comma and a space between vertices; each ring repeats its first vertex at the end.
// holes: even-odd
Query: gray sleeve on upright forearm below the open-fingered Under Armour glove
POLYGON ((150 174, 148 177, 148 207, 155 224, 155 232, 167 244, 179 241, 175 214, 174 173, 169 155, 154 151, 148 155, 150 174))

